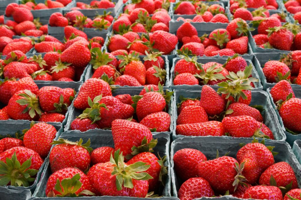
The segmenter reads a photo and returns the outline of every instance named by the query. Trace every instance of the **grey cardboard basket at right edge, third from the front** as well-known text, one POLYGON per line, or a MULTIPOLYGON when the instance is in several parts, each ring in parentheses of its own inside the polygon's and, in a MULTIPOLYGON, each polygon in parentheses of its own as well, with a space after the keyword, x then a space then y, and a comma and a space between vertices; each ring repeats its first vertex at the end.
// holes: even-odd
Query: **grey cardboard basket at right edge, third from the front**
MULTIPOLYGON (((283 54, 287 55, 290 51, 279 51, 279 52, 269 52, 269 53, 254 53, 253 64, 258 72, 259 78, 262 82, 263 89, 272 88, 276 83, 268 83, 266 77, 263 74, 262 68, 265 63, 269 60, 279 60, 283 54)), ((292 88, 299 88, 301 85, 291 84, 292 88)))

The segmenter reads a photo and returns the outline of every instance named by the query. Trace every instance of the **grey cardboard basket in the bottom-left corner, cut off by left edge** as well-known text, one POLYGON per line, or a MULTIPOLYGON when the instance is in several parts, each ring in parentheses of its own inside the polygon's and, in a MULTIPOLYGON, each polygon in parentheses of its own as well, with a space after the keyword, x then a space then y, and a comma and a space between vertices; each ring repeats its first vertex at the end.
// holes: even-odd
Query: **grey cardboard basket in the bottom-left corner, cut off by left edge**
MULTIPOLYGON (((27 120, 5 120, 0 123, 0 129, 2 130, 0 135, 7 136, 11 135, 14 137, 15 132, 22 131, 23 129, 30 128, 30 121, 27 120)), ((63 132, 63 126, 61 123, 48 123, 55 127, 57 130, 56 137, 57 139, 61 133, 63 132)), ((36 174, 36 180, 29 187, 15 187, 15 186, 0 186, 0 195, 1 199, 4 200, 12 200, 12 199, 20 199, 26 200, 30 197, 31 192, 36 189, 37 184, 39 183, 41 176, 43 174, 43 170, 45 168, 46 163, 48 162, 48 158, 45 158, 44 163, 36 174)))

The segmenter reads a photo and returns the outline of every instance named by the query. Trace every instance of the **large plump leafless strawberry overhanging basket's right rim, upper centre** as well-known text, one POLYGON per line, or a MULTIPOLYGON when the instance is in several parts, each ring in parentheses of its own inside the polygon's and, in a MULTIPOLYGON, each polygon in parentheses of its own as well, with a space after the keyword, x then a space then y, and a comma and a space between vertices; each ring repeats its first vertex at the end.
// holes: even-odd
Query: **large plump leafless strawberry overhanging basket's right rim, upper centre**
POLYGON ((153 48, 163 52, 164 55, 169 54, 175 49, 178 43, 177 36, 165 32, 165 31, 155 31, 150 36, 151 44, 154 43, 153 48))

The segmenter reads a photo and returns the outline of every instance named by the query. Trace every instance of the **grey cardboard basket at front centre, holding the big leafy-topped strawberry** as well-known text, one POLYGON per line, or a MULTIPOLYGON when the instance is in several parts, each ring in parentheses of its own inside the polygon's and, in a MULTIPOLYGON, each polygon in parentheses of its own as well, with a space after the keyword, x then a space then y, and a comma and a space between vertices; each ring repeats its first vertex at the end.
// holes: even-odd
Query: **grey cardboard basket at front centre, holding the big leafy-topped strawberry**
MULTIPOLYGON (((67 131, 64 132, 60 138, 64 138, 67 139, 69 141, 79 141, 80 138, 83 139, 83 143, 87 142, 88 139, 90 138, 91 140, 91 145, 90 147, 92 147, 93 149, 98 148, 98 147, 103 147, 103 146, 109 146, 109 147, 113 147, 114 148, 114 142, 113 142, 113 136, 111 133, 102 133, 99 132, 99 130, 94 129, 94 130, 90 130, 85 132, 84 134, 82 134, 81 132, 75 132, 75 131, 67 131)), ((158 144, 156 145, 156 147, 154 147, 154 154, 157 155, 157 153, 159 153, 160 157, 163 157, 166 155, 166 162, 165 162, 165 166, 167 166, 168 168, 168 174, 166 177, 166 182, 165 182, 165 187, 163 188, 163 191, 160 195, 164 196, 161 197, 159 199, 163 199, 163 200, 167 200, 167 199, 173 199, 173 198, 167 198, 171 196, 171 177, 170 177, 170 159, 169 159, 169 147, 170 147, 170 138, 169 138, 169 134, 166 132, 162 132, 162 133, 157 133, 153 135, 153 138, 157 138, 158 139, 158 144)), ((46 195, 45 195, 45 189, 46 189, 46 183, 48 180, 48 177, 51 175, 51 169, 50 169, 50 165, 49 162, 47 163, 47 166, 45 167, 44 173, 42 174, 41 180, 38 183, 35 192, 32 195, 32 199, 46 199, 46 195)), ((58 199, 71 199, 68 197, 64 197, 64 198, 59 198, 59 197, 51 197, 51 198, 47 198, 47 199, 54 199, 54 200, 58 200, 58 199)), ((73 198, 72 198, 73 199, 73 198)), ((96 200, 96 199, 124 199, 124 200, 132 200, 132 199, 142 199, 142 198, 132 198, 132 197, 112 197, 112 196, 101 196, 101 197, 78 197, 78 199, 83 199, 83 200, 96 200)), ((145 199, 145 198, 143 198, 145 199)))

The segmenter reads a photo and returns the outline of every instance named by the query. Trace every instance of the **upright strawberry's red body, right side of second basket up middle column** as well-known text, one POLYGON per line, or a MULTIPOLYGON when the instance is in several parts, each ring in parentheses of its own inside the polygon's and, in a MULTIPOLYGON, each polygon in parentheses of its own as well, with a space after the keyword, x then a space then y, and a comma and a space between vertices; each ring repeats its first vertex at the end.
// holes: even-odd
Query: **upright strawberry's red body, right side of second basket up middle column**
POLYGON ((141 121, 149 114, 161 112, 166 106, 164 97, 159 92, 147 92, 138 102, 136 113, 141 121))

